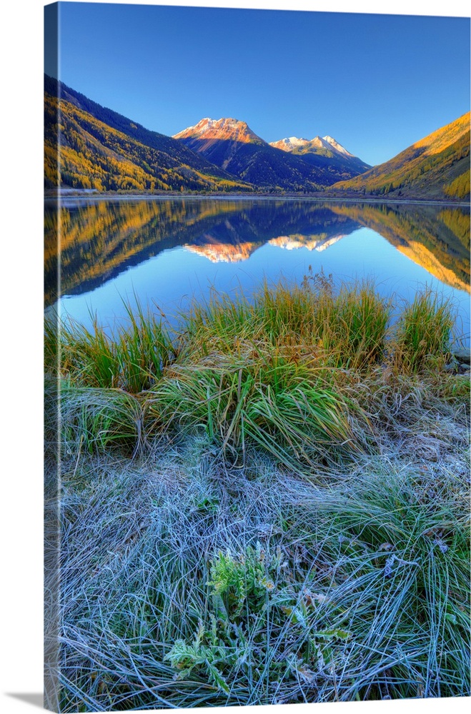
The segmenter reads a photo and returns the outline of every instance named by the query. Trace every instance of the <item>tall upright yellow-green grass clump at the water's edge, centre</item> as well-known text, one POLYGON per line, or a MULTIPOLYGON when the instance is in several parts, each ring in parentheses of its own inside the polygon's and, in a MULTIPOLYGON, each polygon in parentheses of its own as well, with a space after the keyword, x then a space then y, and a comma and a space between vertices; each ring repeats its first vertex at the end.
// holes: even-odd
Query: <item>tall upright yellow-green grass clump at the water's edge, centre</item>
POLYGON ((219 352, 239 354, 257 346, 284 350, 292 360, 324 366, 365 368, 385 349, 390 303, 370 283, 334 293, 332 276, 309 273, 301 286, 264 283, 252 301, 213 293, 192 306, 181 328, 182 358, 194 361, 219 352))

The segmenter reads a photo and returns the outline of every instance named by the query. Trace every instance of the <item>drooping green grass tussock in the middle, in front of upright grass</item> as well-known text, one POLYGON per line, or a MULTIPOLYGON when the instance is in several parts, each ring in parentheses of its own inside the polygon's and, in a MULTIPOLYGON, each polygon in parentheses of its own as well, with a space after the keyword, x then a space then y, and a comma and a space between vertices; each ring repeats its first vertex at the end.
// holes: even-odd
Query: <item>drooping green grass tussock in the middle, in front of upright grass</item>
POLYGON ((152 390, 148 408, 162 426, 202 428, 232 460, 258 446, 299 470, 336 448, 351 453, 365 446, 349 421, 362 417, 360 408, 319 371, 289 361, 277 348, 257 360, 220 356, 174 366, 152 390))

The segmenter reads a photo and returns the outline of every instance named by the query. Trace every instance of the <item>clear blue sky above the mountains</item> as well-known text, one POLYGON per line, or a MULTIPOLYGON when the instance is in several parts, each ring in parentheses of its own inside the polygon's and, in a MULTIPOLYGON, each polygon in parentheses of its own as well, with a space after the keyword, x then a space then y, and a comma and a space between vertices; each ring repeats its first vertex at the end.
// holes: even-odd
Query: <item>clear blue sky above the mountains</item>
POLYGON ((232 116, 379 164, 470 109, 466 18, 86 3, 59 18, 59 79, 162 134, 232 116))

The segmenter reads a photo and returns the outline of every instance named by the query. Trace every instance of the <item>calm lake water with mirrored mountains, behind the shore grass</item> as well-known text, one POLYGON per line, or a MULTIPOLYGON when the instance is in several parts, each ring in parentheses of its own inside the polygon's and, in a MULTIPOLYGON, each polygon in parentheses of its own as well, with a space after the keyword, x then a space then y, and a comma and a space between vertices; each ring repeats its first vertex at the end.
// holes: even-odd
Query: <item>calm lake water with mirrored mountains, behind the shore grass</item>
POLYGON ((297 199, 62 198, 46 205, 46 306, 90 326, 126 318, 124 302, 167 316, 212 289, 253 293, 263 278, 372 278, 410 301, 451 298, 470 332, 470 211, 432 204, 297 199), (59 216, 59 218, 56 218, 59 216), (59 226, 58 226, 59 223, 59 226), (56 246, 60 243, 58 287, 56 246))

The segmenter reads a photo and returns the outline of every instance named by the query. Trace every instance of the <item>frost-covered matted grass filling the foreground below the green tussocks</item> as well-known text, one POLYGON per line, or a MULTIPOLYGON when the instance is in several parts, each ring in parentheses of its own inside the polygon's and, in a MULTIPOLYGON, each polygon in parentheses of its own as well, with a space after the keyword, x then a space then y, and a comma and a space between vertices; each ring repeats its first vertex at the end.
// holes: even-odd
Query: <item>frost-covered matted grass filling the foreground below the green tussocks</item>
POLYGON ((61 710, 469 695, 467 431, 440 420, 312 482, 201 439, 69 459, 61 710))

